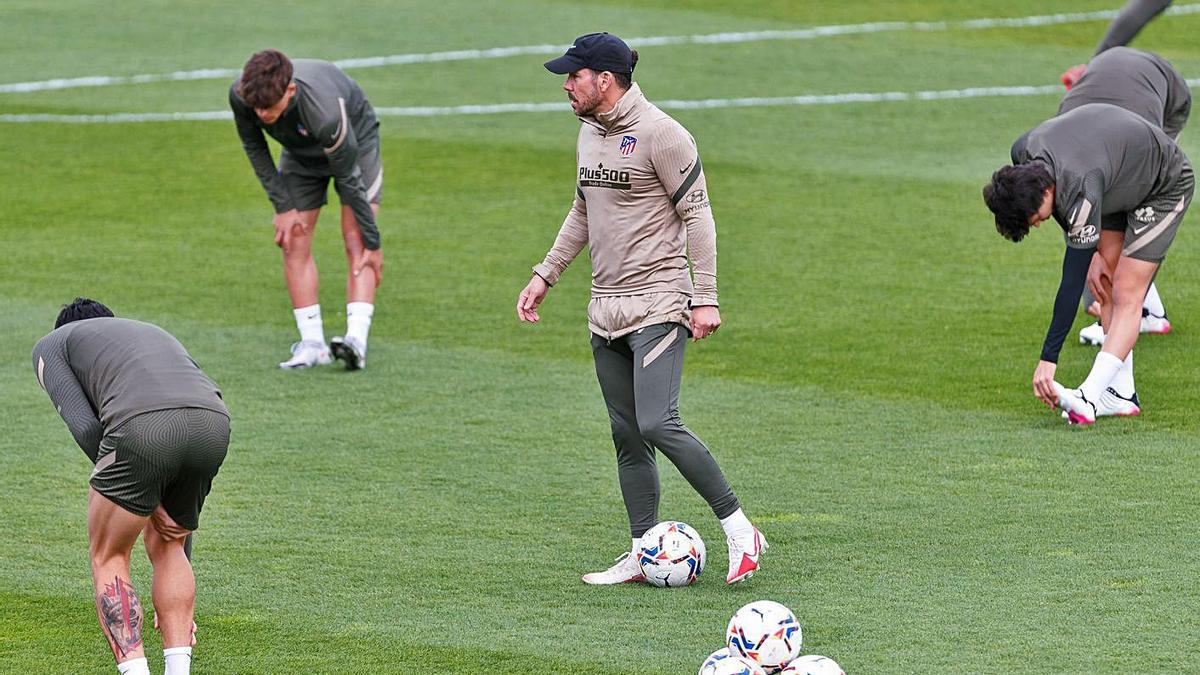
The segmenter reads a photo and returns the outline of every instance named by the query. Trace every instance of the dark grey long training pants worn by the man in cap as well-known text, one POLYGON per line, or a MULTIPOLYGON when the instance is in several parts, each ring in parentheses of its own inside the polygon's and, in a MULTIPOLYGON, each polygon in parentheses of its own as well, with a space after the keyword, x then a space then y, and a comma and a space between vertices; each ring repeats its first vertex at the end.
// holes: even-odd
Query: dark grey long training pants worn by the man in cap
POLYGON ((688 329, 678 323, 650 325, 612 341, 592 335, 596 378, 608 407, 617 474, 634 537, 644 534, 659 519, 655 449, 676 465, 718 518, 739 508, 708 447, 679 419, 688 338, 688 329))

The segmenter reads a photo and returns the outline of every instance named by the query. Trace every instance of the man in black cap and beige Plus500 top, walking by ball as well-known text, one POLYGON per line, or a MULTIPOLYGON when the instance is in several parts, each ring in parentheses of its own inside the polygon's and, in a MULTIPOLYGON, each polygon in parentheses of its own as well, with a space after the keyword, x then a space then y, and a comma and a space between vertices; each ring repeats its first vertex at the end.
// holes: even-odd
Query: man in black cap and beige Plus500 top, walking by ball
MULTIPOLYGON (((658 449, 721 520, 732 584, 754 574, 767 542, 678 410, 689 334, 702 340, 721 324, 716 225, 695 141, 646 100, 632 82, 636 64, 637 52, 607 32, 581 36, 546 62, 566 76, 563 89, 582 123, 575 202, 516 311, 521 321, 536 322, 547 289, 590 247, 588 327, 632 548, 658 522, 658 449)), ((588 584, 641 579, 634 555, 583 577, 588 584)))

